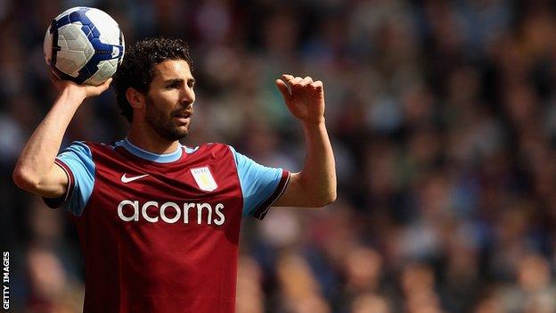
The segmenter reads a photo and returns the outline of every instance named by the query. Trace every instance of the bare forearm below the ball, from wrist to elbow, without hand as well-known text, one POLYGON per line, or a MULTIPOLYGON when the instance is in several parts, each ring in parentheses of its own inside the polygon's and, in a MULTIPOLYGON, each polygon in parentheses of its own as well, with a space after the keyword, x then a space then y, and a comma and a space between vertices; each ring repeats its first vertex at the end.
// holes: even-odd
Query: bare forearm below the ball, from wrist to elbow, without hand
POLYGON ((51 172, 66 128, 82 102, 80 95, 71 94, 68 89, 61 90, 51 110, 20 152, 14 177, 23 177, 38 184, 51 172))

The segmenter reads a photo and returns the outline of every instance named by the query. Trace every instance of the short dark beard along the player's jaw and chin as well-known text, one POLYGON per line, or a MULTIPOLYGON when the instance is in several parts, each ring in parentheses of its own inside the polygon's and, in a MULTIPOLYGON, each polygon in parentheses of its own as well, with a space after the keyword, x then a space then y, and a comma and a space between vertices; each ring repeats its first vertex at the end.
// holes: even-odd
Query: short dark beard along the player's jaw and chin
POLYGON ((183 139, 189 133, 189 125, 187 127, 176 125, 174 119, 172 119, 172 113, 168 115, 160 111, 148 96, 145 107, 147 124, 162 138, 168 141, 176 141, 183 139))

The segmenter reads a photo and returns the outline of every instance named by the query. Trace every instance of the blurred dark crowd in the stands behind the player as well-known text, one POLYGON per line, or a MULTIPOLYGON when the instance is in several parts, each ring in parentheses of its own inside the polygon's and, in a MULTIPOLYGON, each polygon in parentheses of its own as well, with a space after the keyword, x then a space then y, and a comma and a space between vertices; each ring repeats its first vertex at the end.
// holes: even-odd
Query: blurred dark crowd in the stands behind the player
MULTIPOLYGON (((53 101, 45 29, 76 5, 109 12, 128 45, 190 43, 184 144, 298 170, 302 132, 274 78, 323 79, 338 201, 245 220, 238 312, 556 311, 553 2, 4 0, 0 243, 14 311, 81 305, 75 230, 11 180, 53 101)), ((79 109, 64 145, 126 129, 110 91, 79 109)))

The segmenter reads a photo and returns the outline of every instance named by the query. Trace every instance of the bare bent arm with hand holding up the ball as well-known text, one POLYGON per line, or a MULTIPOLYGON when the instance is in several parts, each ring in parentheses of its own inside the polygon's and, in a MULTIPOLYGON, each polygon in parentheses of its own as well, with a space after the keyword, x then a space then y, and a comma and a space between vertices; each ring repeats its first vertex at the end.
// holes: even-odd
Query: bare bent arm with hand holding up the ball
POLYGON ((20 152, 13 182, 29 193, 45 197, 60 197, 68 187, 68 177, 54 159, 61 140, 79 105, 90 96, 100 95, 110 86, 111 78, 101 86, 81 86, 51 75, 59 95, 20 152))

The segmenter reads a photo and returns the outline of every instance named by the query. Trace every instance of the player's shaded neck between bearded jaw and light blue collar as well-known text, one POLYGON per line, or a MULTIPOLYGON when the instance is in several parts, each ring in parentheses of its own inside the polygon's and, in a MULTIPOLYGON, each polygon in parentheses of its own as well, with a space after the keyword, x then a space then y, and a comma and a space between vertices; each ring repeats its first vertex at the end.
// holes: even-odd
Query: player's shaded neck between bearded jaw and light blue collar
POLYGON ((159 136, 154 129, 138 123, 131 123, 131 130, 127 134, 127 140, 145 151, 164 154, 175 152, 179 146, 177 140, 171 141, 159 136))

